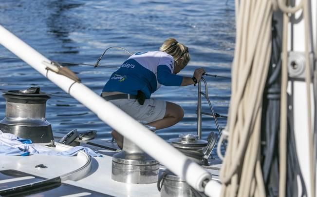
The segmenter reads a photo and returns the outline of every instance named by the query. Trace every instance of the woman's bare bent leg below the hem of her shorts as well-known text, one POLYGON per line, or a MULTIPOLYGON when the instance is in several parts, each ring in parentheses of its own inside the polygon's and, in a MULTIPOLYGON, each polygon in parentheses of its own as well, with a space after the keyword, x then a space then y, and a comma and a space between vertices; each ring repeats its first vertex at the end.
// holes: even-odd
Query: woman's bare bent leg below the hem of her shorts
POLYGON ((155 127, 156 130, 164 129, 178 123, 183 119, 183 117, 184 110, 181 106, 172 102, 166 102, 166 112, 164 118, 150 122, 148 125, 155 127))

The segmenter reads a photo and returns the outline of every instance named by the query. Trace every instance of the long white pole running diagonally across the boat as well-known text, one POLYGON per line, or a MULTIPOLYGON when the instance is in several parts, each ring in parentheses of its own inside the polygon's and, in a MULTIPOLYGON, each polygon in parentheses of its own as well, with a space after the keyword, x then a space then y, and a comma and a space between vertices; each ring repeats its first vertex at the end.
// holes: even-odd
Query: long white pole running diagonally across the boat
MULTIPOLYGON (((77 83, 65 76, 58 75, 55 72, 46 70, 46 64, 51 62, 39 54, 28 44, 20 40, 11 32, 0 25, 0 43, 16 54, 20 59, 31 65, 47 79, 54 82, 57 86, 69 93, 88 109, 95 113, 101 120, 110 125, 124 137, 133 141, 142 150, 151 157, 164 164, 170 171, 177 176, 185 178, 186 182, 197 191, 204 192, 203 182, 210 180, 211 175, 197 163, 188 159, 181 152, 169 145, 162 138, 158 137, 141 123, 131 118, 122 110, 117 108, 111 102, 108 102, 95 94, 91 89, 82 83, 77 83)), ((210 180, 213 185, 219 185, 218 182, 210 180)), ((209 184, 211 185, 211 184, 209 184)), ((209 187, 209 186, 208 186, 209 187)), ((217 190, 216 188, 214 188, 217 190)), ((217 197, 208 189, 208 195, 217 197)), ((216 191, 217 192, 217 191, 216 191)))

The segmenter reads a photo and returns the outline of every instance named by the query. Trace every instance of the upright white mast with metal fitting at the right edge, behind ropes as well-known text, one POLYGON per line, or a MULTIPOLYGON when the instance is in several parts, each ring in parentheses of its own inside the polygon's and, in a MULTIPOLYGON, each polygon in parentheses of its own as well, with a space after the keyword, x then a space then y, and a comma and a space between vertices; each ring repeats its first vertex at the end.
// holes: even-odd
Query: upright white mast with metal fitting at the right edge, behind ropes
MULTIPOLYGON (((305 0, 296 0, 296 5, 300 3, 300 1, 305 1, 305 0)), ((309 0, 307 0, 309 3, 309 0)), ((309 39, 311 40, 312 48, 310 49, 310 52, 316 53, 316 23, 317 23, 317 1, 316 0, 310 0, 311 6, 307 6, 308 9, 308 14, 311 15, 311 20, 309 18, 303 17, 303 12, 298 11, 295 13, 295 18, 290 18, 290 25, 289 25, 289 48, 288 51, 291 52, 289 53, 289 74, 292 75, 294 72, 299 69, 303 69, 303 73, 301 76, 294 76, 294 78, 290 78, 289 83, 288 83, 288 93, 290 94, 290 99, 289 100, 289 106, 293 106, 290 111, 293 111, 293 117, 294 117, 294 133, 295 133, 295 139, 296 139, 296 148, 297 148, 297 155, 298 155, 298 162, 300 166, 300 170, 302 172, 305 185, 306 185, 306 190, 307 190, 307 195, 308 197, 312 197, 312 188, 316 188, 316 186, 312 185, 312 179, 311 176, 316 177, 316 166, 311 166, 311 159, 315 161, 316 155, 311 155, 310 153, 310 144, 309 141, 313 141, 310 137, 311 135, 309 134, 310 132, 314 131, 314 89, 313 89, 313 84, 311 84, 311 122, 312 125, 309 125, 308 121, 308 101, 307 101, 307 88, 306 88, 306 81, 303 81, 304 79, 304 72, 305 72, 305 59, 304 52, 305 52, 305 20, 308 20, 310 24, 312 24, 312 28, 310 29, 311 31, 309 32, 309 39), (298 21, 299 20, 299 21, 298 21), (315 39, 315 41, 314 41, 315 39), (295 59, 294 56, 297 57, 296 65, 295 68, 292 68, 292 62, 291 59, 295 59), (303 59, 301 61, 300 59, 303 59), (313 158, 312 158, 313 157, 313 158), (313 174, 315 171, 315 175, 313 174)), ((306 7, 304 7, 306 9, 306 7)), ((310 54, 310 58, 313 57, 312 54, 310 54)), ((316 58, 316 54, 315 54, 316 58)), ((313 59, 310 59, 310 61, 313 59)), ((310 62, 310 66, 312 69, 314 69, 314 61, 310 62)), ((313 74, 313 73, 312 73, 313 74)), ((315 103, 316 104, 316 103, 315 103)), ((315 141, 316 143, 316 141, 315 141)), ((312 148, 312 147, 311 147, 312 148)), ((316 154, 316 153, 315 153, 316 154)), ((315 192, 316 194, 316 192, 315 192)))

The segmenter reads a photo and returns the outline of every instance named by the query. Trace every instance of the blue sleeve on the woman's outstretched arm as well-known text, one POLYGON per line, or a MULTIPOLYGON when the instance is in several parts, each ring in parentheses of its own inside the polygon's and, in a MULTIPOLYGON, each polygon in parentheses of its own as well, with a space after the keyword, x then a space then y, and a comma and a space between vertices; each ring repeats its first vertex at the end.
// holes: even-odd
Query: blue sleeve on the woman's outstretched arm
POLYGON ((157 81, 166 86, 181 86, 183 77, 171 73, 167 65, 157 67, 157 81))

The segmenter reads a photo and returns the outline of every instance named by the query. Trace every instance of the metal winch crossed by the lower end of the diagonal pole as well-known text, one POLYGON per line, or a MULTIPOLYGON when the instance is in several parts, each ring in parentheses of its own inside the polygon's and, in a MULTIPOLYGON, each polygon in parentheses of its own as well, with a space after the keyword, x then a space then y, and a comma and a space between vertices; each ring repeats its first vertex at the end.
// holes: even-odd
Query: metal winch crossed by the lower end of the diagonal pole
MULTIPOLYGON (((179 138, 172 138, 171 145, 184 153, 188 158, 199 165, 208 165, 208 158, 215 147, 218 135, 210 133, 207 140, 199 139, 194 134, 182 134, 179 138)), ((186 181, 166 171, 158 182, 161 197, 195 197, 196 191, 193 190, 186 181)))

